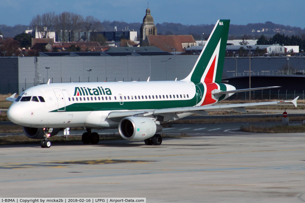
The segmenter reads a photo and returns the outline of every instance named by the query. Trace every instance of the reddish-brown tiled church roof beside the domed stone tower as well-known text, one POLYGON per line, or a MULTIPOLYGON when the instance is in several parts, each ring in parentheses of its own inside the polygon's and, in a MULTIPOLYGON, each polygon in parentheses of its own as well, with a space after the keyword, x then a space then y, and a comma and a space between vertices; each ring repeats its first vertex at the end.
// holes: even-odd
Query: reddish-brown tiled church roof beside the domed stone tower
POLYGON ((156 46, 163 51, 177 52, 184 51, 181 43, 196 43, 192 35, 149 35, 148 42, 150 46, 156 46))

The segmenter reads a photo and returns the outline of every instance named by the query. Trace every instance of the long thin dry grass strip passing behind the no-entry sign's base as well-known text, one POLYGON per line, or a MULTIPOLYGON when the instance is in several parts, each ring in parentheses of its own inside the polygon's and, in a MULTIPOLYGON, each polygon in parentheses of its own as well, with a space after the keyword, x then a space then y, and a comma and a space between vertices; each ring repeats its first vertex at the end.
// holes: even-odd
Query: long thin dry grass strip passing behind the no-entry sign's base
MULTIPOLYGON (((289 117, 289 121, 303 121, 305 116, 289 117)), ((207 119, 183 119, 170 122, 171 124, 203 124, 203 123, 232 123, 232 122, 276 122, 282 121, 282 117, 254 117, 254 118, 207 118, 207 119)))

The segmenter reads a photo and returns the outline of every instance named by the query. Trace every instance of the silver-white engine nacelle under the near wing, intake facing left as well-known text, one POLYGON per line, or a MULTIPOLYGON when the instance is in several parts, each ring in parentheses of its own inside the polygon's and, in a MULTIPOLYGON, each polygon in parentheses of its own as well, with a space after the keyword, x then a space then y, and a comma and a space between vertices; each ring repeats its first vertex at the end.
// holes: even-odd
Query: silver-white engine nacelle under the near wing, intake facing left
POLYGON ((120 121, 119 132, 122 138, 131 141, 141 141, 151 138, 156 132, 162 131, 162 126, 150 118, 126 117, 120 121))

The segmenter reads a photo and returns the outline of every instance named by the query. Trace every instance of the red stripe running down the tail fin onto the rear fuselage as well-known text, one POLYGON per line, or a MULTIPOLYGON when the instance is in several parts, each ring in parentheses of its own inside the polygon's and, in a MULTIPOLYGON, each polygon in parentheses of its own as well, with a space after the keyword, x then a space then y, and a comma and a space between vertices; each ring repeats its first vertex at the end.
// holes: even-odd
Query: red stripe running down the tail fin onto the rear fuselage
POLYGON ((211 64, 210 69, 208 70, 208 72, 206 74, 206 77, 204 78, 204 83, 206 83, 206 96, 204 97, 204 100, 203 100, 203 103, 201 104, 201 106, 207 105, 207 104, 212 104, 217 101, 217 100, 212 99, 212 91, 214 89, 218 88, 216 83, 213 82, 214 71, 216 71, 215 62, 216 62, 216 55, 211 64))

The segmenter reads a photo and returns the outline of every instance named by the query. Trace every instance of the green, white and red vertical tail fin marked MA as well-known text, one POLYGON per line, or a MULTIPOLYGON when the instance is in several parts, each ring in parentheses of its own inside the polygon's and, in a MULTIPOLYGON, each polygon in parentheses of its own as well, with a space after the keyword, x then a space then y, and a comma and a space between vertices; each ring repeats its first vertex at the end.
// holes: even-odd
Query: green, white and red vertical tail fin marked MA
POLYGON ((221 82, 230 20, 218 20, 192 72, 183 81, 221 82))

